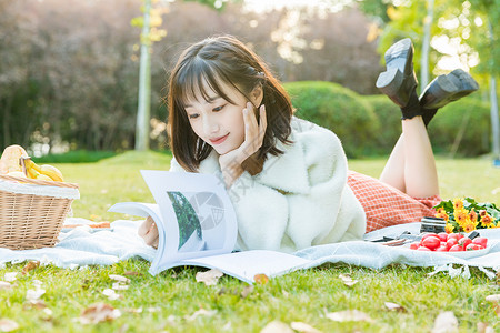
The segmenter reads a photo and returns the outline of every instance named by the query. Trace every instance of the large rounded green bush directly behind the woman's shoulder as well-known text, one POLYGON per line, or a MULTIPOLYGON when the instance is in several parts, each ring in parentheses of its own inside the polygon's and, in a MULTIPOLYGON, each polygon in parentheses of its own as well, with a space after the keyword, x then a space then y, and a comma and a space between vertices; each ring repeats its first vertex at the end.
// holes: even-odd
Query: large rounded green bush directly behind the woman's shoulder
POLYGON ((379 122, 359 94, 322 81, 288 82, 284 88, 297 109, 296 115, 332 130, 348 157, 360 157, 371 149, 379 122))

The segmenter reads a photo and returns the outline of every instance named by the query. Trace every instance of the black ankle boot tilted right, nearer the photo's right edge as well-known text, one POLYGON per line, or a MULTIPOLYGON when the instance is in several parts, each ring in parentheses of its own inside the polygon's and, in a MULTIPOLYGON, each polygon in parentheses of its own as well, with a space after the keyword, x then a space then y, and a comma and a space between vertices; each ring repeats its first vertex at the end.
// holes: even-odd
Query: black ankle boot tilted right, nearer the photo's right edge
POLYGON ((426 87, 420 95, 423 122, 427 125, 439 108, 457 101, 478 89, 478 82, 461 69, 456 69, 446 75, 439 75, 426 87))

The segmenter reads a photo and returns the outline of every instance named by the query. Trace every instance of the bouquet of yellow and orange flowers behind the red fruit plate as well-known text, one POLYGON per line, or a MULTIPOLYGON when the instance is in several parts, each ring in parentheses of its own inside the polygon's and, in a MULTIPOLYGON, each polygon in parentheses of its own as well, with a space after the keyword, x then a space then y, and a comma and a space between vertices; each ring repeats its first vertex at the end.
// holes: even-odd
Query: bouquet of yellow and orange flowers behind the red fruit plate
POLYGON ((476 229, 500 228, 500 210, 494 203, 478 203, 472 198, 441 201, 434 206, 436 218, 447 221, 446 231, 471 232, 476 229))

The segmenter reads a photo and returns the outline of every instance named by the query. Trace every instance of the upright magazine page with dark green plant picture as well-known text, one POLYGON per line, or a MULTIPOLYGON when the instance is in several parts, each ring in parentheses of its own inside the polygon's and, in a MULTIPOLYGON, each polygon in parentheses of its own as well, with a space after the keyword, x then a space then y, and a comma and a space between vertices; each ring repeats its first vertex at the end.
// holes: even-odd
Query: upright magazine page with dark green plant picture
POLYGON ((156 274, 183 259, 230 253, 238 225, 232 203, 220 180, 212 174, 141 170, 158 206, 156 274))

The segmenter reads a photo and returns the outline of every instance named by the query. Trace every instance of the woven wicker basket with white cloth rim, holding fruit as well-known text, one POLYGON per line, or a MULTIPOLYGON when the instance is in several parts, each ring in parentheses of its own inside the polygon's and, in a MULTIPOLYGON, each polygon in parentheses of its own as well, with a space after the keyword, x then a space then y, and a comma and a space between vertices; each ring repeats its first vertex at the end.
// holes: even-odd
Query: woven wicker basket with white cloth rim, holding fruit
POLYGON ((0 248, 56 245, 78 185, 9 175, 0 175, 0 248))

